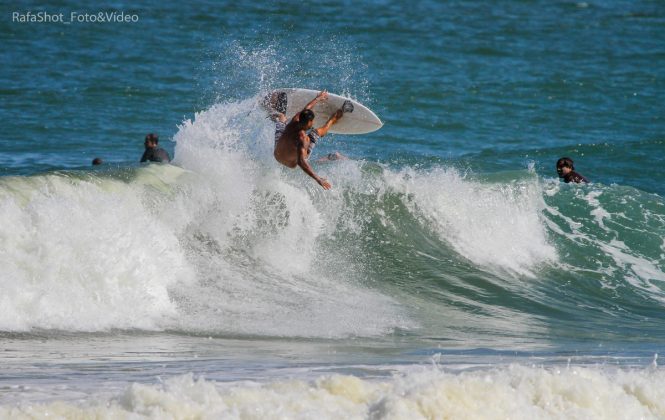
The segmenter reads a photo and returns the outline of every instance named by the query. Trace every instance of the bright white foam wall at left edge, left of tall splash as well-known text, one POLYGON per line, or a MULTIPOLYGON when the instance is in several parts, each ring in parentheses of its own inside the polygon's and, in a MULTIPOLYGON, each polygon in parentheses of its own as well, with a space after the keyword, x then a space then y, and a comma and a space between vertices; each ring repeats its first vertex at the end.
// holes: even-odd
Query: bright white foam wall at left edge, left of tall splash
POLYGON ((0 330, 159 327, 191 280, 142 184, 66 176, 0 182, 0 330))

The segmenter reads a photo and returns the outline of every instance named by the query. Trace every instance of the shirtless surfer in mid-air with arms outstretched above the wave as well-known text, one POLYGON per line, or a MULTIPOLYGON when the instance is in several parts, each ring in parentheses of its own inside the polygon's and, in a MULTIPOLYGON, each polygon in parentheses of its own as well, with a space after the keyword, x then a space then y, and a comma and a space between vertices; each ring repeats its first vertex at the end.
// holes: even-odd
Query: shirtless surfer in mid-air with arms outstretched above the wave
POLYGON ((327 91, 319 92, 302 111, 291 118, 291 121, 287 121, 286 115, 279 112, 279 110, 271 116, 275 122, 275 159, 289 168, 300 166, 307 175, 312 177, 325 190, 329 190, 332 185, 314 172, 309 164, 309 156, 316 142, 328 134, 330 127, 344 115, 343 109, 340 108, 321 127, 312 128, 315 117, 312 108, 318 102, 325 101, 327 98, 327 91))

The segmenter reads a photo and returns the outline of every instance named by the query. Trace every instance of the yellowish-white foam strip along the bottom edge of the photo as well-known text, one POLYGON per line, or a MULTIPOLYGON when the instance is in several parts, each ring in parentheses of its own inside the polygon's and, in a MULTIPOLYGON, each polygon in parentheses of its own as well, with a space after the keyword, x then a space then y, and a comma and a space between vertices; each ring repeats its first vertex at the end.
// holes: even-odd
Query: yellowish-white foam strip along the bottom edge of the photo
POLYGON ((665 372, 508 368, 446 373, 410 368, 382 380, 215 383, 191 374, 132 384, 116 398, 0 407, 3 418, 620 419, 665 417, 665 372))

